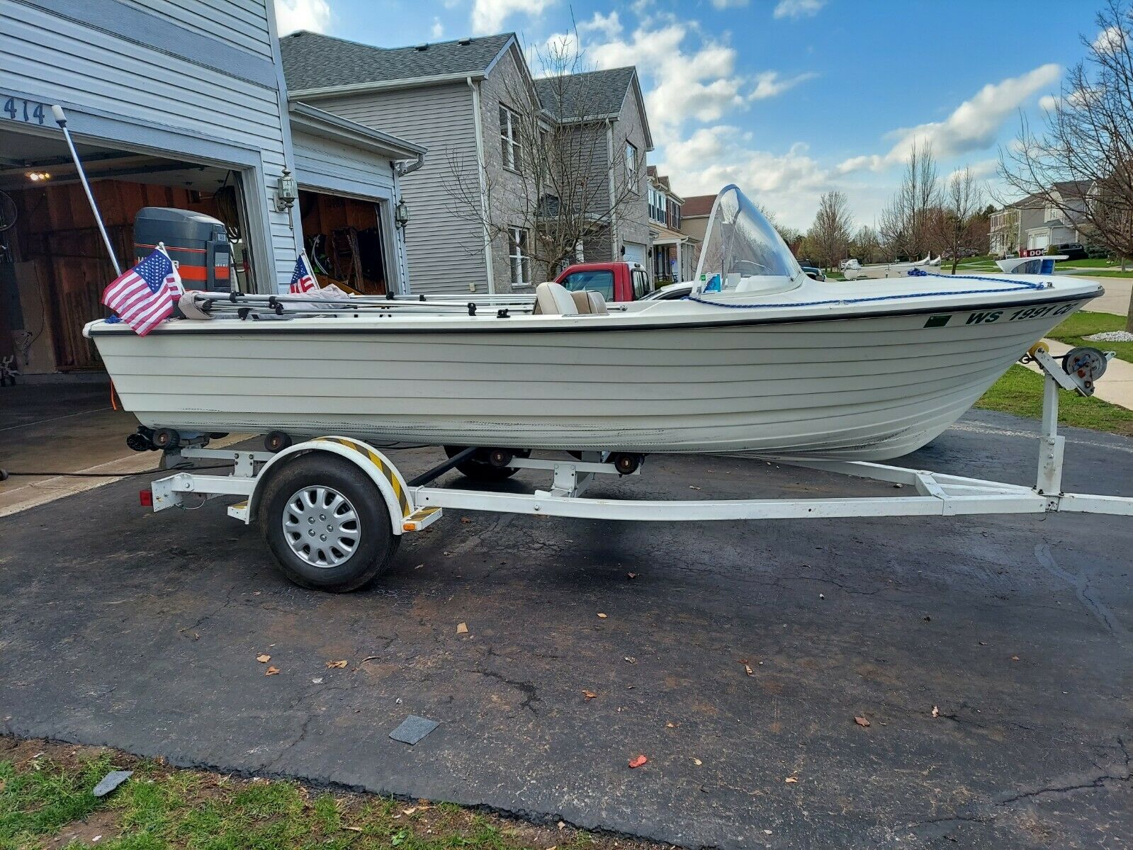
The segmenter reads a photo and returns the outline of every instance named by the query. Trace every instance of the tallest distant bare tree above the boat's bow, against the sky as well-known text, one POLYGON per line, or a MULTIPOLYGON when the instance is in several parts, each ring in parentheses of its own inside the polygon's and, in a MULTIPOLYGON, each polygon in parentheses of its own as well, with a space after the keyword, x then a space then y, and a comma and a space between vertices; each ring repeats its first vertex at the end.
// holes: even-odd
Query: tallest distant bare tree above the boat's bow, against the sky
POLYGON ((939 185, 931 144, 914 139, 901 185, 878 219, 881 240, 895 258, 919 260, 931 253, 939 232, 939 185))

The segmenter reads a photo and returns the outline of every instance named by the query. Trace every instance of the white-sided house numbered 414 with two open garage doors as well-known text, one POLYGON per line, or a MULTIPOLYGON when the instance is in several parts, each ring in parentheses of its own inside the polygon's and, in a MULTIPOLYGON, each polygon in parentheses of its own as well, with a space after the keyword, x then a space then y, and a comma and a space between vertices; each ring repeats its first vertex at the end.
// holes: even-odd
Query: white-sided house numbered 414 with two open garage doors
POLYGON ((24 374, 99 368, 80 330, 113 277, 53 104, 123 266, 137 211, 172 206, 227 224, 236 288, 286 288, 306 236, 356 288, 407 289, 395 206, 425 151, 290 103, 271 0, 0 0, 0 357, 24 374))

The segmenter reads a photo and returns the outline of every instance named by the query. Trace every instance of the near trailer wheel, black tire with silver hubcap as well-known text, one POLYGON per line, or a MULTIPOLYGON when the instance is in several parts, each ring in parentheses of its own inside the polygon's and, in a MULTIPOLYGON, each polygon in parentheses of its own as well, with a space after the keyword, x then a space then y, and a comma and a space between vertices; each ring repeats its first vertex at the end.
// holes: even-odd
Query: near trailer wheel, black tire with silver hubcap
POLYGON ((264 483, 257 519, 283 575, 314 590, 365 587, 401 543, 367 475, 323 452, 296 458, 264 483))

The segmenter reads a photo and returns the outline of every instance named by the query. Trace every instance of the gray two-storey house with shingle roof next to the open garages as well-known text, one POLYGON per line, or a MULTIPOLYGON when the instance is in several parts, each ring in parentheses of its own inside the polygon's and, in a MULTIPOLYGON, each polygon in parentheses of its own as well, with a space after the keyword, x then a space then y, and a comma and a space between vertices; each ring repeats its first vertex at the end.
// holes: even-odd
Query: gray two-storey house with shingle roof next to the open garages
POLYGON ((556 199, 531 196, 522 164, 540 127, 568 125, 608 184, 588 204, 598 224, 580 258, 647 264, 653 139, 632 68, 572 75, 574 102, 531 78, 513 34, 391 49, 299 32, 280 46, 293 100, 428 148, 401 186, 412 291, 522 291, 554 271, 533 261, 531 216, 556 199), (638 203, 622 203, 627 186, 638 203))

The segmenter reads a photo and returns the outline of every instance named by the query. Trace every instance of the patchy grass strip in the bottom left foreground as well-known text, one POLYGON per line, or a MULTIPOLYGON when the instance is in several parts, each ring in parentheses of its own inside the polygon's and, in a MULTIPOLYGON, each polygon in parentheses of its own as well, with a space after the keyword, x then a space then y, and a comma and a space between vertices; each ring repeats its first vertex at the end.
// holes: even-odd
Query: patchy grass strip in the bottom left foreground
POLYGON ((446 804, 331 793, 172 770, 103 749, 0 738, 0 848, 74 850, 95 841, 108 850, 655 847, 446 804), (109 771, 123 767, 134 775, 118 790, 102 799, 91 794, 109 771))

